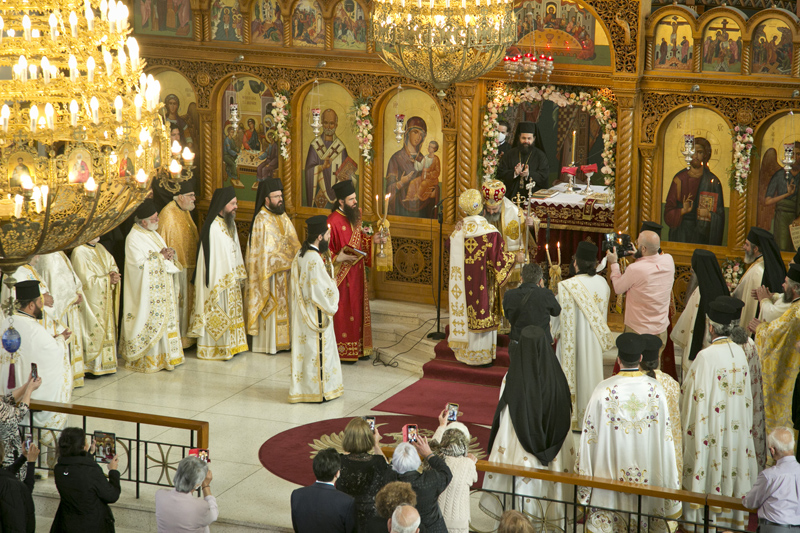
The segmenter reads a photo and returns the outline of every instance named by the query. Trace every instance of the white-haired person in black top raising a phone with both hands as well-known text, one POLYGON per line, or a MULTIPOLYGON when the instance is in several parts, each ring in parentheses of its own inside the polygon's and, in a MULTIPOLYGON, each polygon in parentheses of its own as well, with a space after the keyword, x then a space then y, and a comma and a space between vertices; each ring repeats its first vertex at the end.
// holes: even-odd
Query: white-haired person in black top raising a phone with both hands
POLYGON ((453 473, 444 459, 431 451, 428 439, 419 436, 411 444, 401 442, 392 456, 392 470, 387 474, 387 481, 405 481, 417 494, 417 511, 422 517, 425 533, 447 533, 442 511, 439 509, 439 495, 444 492, 453 479, 453 473), (422 457, 427 461, 427 468, 420 473, 422 457))

